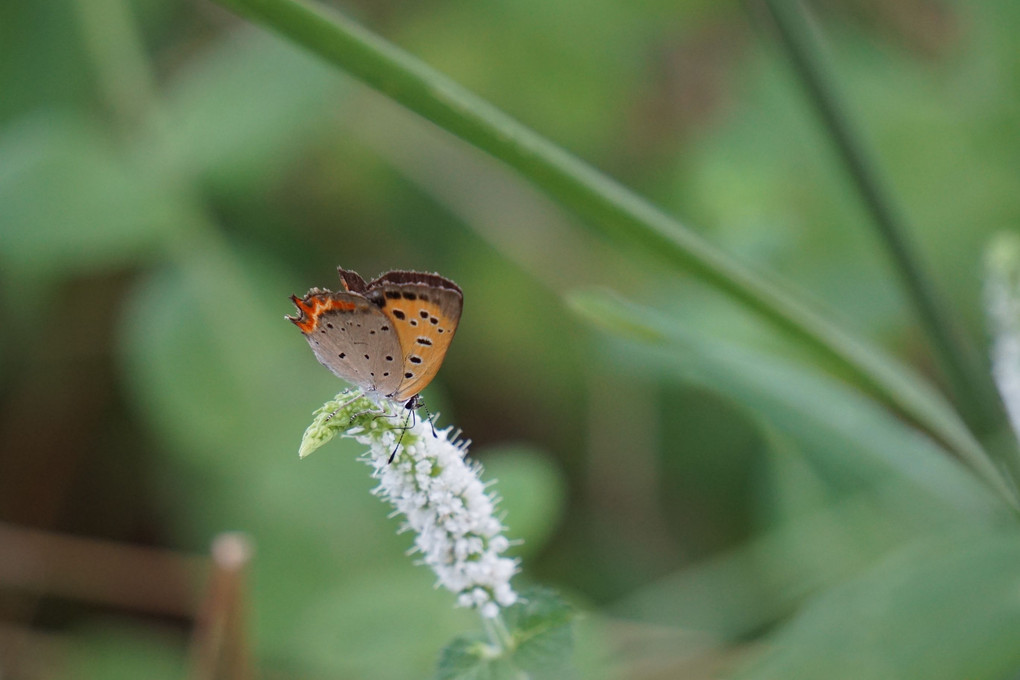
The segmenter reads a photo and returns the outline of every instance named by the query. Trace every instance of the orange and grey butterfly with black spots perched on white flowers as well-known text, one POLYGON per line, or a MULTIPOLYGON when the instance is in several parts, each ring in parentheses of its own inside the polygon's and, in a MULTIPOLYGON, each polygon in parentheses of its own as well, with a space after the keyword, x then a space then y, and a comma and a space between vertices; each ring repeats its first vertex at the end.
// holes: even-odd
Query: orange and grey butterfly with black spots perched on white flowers
POLYGON ((417 409, 457 332, 463 293, 439 274, 390 271, 365 282, 338 271, 343 291, 291 296, 299 314, 286 318, 336 375, 370 399, 417 409))

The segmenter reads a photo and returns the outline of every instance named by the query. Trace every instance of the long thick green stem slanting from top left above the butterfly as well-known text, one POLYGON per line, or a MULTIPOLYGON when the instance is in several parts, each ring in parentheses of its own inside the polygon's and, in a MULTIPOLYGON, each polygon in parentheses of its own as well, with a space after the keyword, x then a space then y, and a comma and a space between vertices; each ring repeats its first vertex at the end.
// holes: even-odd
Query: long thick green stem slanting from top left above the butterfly
POLYGON ((749 270, 633 192, 346 17, 297 0, 216 1, 507 163, 591 226, 695 274, 761 314, 839 374, 944 441, 1015 503, 987 454, 938 393, 812 310, 787 286, 749 270))

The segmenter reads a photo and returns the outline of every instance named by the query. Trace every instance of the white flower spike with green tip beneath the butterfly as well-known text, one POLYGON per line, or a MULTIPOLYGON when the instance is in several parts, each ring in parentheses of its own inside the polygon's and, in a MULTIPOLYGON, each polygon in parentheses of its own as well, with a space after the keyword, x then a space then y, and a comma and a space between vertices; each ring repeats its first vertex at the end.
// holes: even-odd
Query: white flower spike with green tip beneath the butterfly
POLYGON ((497 499, 486 491, 481 466, 465 461, 468 441, 418 420, 405 429, 407 410, 376 404, 360 390, 341 393, 316 411, 301 442, 302 458, 337 434, 368 447, 362 458, 378 480, 373 492, 404 517, 414 550, 457 595, 457 605, 495 619, 517 601, 510 579, 517 562, 503 554, 510 541, 496 517, 497 499), (391 461, 393 457, 393 461, 391 461))

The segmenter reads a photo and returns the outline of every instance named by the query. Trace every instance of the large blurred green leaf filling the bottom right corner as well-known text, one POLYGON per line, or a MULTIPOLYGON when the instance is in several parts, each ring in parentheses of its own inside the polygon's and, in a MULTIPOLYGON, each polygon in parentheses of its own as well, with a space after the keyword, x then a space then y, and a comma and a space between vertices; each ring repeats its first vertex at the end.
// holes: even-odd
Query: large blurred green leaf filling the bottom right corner
POLYGON ((999 680, 1020 667, 1020 536, 961 532, 902 550, 818 597, 740 680, 999 680))

